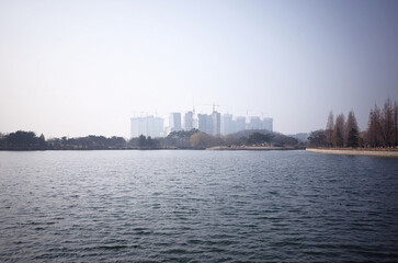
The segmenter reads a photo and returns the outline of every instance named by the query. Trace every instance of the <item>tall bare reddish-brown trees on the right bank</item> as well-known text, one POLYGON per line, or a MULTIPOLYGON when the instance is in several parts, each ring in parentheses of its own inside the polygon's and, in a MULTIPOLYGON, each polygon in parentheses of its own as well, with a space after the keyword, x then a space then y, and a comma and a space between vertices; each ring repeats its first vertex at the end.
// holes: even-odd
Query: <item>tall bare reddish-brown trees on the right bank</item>
POLYGON ((397 147, 398 146, 398 105, 388 98, 383 108, 377 104, 371 110, 367 128, 360 132, 354 111, 345 119, 344 114, 336 118, 329 113, 326 129, 311 132, 308 137, 312 147, 397 147))

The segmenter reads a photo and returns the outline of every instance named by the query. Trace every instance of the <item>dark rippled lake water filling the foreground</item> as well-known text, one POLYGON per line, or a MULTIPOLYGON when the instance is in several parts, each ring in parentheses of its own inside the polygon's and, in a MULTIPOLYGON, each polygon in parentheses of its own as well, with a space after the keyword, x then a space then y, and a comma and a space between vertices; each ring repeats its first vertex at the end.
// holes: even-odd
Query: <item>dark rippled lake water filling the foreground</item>
POLYGON ((398 261, 398 160, 0 152, 0 262, 398 261))

